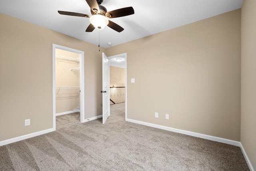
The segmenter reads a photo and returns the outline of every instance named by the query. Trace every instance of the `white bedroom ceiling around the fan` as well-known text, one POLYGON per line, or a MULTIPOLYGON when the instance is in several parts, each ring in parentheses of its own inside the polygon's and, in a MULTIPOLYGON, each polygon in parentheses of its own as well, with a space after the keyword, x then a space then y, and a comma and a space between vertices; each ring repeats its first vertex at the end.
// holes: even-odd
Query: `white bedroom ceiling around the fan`
MULTIPOLYGON (((122 26, 100 30, 100 46, 112 46, 190 24, 242 7, 243 0, 104 0, 108 11, 132 6, 135 14, 111 21, 122 26)), ((85 32, 89 18, 58 14, 58 10, 91 15, 86 0, 0 0, 0 12, 98 45, 99 32, 85 32)), ((40 33, 38 33, 40 34, 40 33)))

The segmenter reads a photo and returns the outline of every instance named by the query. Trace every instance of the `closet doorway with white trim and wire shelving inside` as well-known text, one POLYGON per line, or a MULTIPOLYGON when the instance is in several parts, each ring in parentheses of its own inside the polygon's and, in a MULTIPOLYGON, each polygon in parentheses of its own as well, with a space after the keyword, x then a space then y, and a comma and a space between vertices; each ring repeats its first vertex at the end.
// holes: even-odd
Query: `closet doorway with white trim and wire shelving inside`
POLYGON ((84 52, 53 44, 53 128, 56 116, 80 112, 84 122, 84 52))

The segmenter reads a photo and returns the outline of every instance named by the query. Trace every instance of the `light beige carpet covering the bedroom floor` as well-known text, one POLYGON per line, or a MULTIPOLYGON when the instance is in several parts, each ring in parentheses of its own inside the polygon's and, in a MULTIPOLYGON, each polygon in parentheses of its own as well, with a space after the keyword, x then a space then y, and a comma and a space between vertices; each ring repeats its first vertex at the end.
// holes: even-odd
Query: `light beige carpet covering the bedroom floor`
POLYGON ((56 117, 56 131, 0 147, 1 171, 249 171, 239 147, 124 121, 56 117))

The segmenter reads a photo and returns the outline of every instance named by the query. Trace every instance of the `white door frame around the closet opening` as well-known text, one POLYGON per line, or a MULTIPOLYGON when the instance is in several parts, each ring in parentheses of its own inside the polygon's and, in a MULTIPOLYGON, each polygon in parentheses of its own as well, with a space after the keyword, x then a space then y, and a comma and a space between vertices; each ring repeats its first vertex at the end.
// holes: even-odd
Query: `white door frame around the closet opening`
POLYGON ((57 44, 52 44, 52 124, 54 131, 56 130, 56 67, 55 67, 55 49, 65 50, 80 54, 80 122, 84 123, 84 52, 57 44))

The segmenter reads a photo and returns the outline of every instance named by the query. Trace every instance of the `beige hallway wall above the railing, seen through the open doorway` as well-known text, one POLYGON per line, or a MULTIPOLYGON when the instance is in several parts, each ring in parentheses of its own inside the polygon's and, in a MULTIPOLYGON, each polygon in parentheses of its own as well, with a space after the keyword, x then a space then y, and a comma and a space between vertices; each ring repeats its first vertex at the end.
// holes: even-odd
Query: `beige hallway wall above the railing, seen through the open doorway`
POLYGON ((110 87, 125 87, 125 69, 110 66, 110 87))

